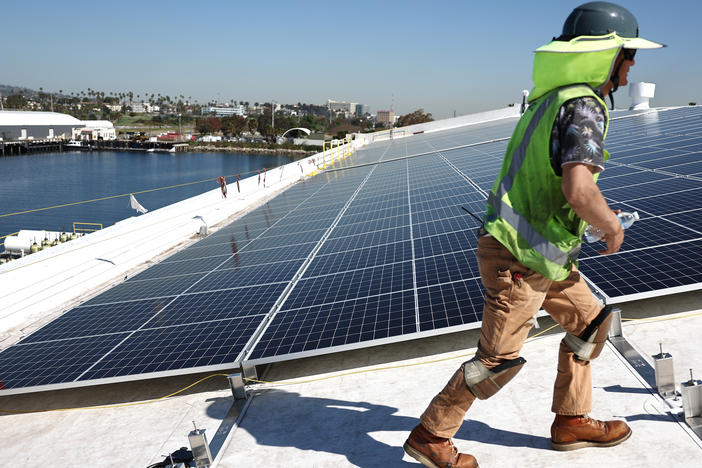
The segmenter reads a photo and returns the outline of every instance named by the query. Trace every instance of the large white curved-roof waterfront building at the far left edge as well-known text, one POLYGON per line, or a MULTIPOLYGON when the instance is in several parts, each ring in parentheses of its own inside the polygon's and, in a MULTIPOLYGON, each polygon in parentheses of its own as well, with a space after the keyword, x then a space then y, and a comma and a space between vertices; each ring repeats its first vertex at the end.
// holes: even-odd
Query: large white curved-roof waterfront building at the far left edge
POLYGON ((8 140, 70 139, 85 124, 58 112, 0 111, 0 138, 8 140))

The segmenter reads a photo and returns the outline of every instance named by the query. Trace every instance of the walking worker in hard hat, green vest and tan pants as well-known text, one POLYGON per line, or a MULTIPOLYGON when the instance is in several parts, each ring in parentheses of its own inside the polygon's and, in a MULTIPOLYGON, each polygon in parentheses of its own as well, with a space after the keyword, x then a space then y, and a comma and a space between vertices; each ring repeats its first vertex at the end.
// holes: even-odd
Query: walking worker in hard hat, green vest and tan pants
POLYGON ((573 10, 560 37, 536 50, 529 105, 478 233, 485 304, 475 357, 434 397, 404 445, 426 466, 478 466, 451 438, 476 398, 490 398, 521 370, 519 352, 540 308, 566 331, 553 389, 552 448, 610 447, 631 436, 624 421, 588 416, 590 361, 604 347, 611 309, 588 289, 577 255, 587 224, 605 233, 600 254, 617 252, 624 240, 617 211, 596 182, 609 157, 603 99, 627 84, 637 49, 662 47, 638 36, 628 10, 590 2, 573 10))

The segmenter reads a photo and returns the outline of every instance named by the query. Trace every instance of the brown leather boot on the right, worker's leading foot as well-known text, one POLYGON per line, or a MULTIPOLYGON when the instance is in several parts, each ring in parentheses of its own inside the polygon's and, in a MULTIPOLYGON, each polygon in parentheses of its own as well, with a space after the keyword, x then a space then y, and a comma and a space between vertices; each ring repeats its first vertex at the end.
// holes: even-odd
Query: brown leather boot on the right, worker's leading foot
POLYGON ((551 425, 551 447, 576 450, 583 447, 612 447, 631 436, 624 421, 598 421, 588 416, 556 415, 551 425))

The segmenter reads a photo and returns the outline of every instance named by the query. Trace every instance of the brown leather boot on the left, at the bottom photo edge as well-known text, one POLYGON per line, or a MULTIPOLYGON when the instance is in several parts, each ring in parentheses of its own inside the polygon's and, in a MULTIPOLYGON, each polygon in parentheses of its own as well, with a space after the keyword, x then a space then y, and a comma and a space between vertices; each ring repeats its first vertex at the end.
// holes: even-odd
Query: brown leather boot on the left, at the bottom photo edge
POLYGON ((458 453, 451 439, 436 437, 421 424, 412 429, 404 445, 407 455, 429 468, 477 468, 473 455, 458 453))

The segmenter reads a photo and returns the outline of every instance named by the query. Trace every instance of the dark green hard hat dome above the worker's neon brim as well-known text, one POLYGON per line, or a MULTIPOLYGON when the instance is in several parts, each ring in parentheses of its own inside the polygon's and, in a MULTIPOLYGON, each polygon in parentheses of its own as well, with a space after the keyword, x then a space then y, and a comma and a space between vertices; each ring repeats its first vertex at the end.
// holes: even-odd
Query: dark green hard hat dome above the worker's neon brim
POLYGON ((563 24, 561 40, 577 36, 639 37, 639 23, 626 8, 609 2, 588 2, 577 7, 563 24))

